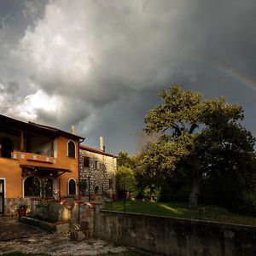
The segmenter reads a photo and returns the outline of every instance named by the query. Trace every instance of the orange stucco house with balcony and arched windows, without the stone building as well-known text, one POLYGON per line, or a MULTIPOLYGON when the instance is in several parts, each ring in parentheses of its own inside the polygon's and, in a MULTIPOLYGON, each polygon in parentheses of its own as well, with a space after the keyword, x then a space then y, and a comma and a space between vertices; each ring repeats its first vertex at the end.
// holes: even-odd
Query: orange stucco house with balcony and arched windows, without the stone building
POLYGON ((31 197, 78 195, 79 137, 0 114, 0 214, 31 197))

